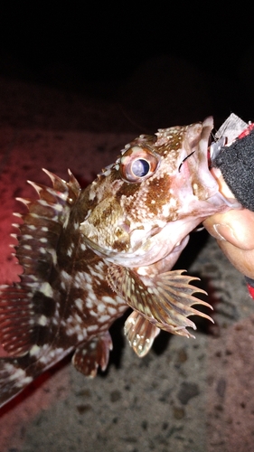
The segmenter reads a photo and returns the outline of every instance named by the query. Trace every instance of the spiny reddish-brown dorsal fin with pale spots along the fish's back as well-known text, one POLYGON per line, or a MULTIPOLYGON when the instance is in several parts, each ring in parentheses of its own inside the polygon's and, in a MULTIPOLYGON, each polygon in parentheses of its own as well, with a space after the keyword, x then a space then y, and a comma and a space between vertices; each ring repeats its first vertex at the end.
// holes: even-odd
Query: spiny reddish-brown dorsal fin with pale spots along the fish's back
POLYGON ((15 246, 24 272, 13 287, 0 287, 0 339, 13 356, 23 356, 39 335, 50 334, 55 309, 50 285, 52 269, 57 266, 57 245, 68 223, 71 208, 80 195, 80 185, 70 174, 70 182, 49 173, 53 187, 33 184, 39 199, 20 200, 28 212, 21 215, 15 246))

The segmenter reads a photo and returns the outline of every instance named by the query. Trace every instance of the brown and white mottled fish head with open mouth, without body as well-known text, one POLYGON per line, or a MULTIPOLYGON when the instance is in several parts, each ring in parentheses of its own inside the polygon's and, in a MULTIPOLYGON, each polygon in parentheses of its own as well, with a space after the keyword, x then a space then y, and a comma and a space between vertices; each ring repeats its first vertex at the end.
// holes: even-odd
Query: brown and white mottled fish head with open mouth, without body
POLYGON ((207 158, 212 128, 210 117, 141 135, 125 146, 89 186, 80 225, 88 246, 113 263, 149 265, 218 212, 218 184, 207 158))

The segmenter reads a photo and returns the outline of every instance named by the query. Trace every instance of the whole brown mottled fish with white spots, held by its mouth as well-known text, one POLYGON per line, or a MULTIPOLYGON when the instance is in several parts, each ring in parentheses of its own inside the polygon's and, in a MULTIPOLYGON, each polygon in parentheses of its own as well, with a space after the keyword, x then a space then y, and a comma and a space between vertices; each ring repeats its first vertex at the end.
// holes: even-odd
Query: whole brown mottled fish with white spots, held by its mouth
POLYGON ((193 337, 198 279, 172 269, 205 218, 229 209, 208 165, 212 117, 140 135, 88 187, 43 170, 20 199, 20 281, 0 287, 0 406, 66 355, 85 376, 108 366, 108 329, 132 308, 127 341, 139 357, 160 330, 193 337))

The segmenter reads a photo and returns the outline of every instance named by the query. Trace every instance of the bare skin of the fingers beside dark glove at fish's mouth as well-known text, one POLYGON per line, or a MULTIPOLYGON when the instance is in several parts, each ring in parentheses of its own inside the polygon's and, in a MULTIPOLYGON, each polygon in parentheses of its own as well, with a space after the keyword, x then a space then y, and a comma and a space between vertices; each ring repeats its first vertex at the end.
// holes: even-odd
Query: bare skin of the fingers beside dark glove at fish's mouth
MULTIPOLYGON (((212 170, 220 192, 232 197, 221 172, 212 170)), ((206 230, 217 240, 232 265, 243 275, 254 279, 254 212, 247 209, 216 213, 203 221, 206 230)))

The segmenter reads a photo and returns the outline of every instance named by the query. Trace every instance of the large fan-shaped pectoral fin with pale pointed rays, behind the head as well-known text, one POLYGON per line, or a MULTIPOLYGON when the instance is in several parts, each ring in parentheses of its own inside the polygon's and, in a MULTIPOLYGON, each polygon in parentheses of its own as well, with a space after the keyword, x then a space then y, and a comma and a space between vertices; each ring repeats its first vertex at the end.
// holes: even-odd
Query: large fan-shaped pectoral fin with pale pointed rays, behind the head
POLYGON ((206 292, 191 286, 189 282, 198 278, 183 275, 183 271, 167 271, 147 278, 138 275, 134 269, 113 265, 108 268, 108 283, 118 295, 125 298, 129 306, 153 325, 169 333, 190 337, 192 334, 186 327, 196 329, 196 325, 188 318, 190 315, 200 315, 212 321, 209 315, 192 306, 212 306, 193 297, 194 292, 206 292))

